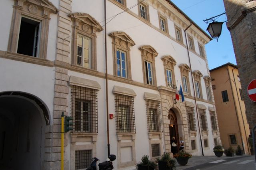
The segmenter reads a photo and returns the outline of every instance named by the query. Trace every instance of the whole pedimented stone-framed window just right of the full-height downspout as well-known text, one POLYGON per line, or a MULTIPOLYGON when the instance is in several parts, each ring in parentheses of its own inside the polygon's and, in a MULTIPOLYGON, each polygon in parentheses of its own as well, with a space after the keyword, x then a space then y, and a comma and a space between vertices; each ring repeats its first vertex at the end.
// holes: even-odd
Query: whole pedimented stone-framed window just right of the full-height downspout
POLYGON ((125 32, 112 32, 113 70, 114 75, 126 79, 132 79, 130 47, 134 41, 125 32))

